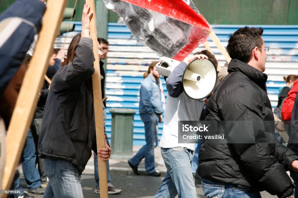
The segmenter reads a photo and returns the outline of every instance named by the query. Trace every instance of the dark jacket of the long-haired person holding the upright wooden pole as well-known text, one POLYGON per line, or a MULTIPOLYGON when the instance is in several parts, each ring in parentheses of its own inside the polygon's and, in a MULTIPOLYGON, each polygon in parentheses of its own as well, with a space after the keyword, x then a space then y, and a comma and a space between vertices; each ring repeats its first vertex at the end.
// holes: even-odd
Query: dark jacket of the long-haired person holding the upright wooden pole
POLYGON ((70 161, 80 171, 85 169, 91 149, 97 150, 90 87, 94 73, 92 47, 90 38, 81 38, 73 62, 53 77, 38 141, 40 158, 70 161))

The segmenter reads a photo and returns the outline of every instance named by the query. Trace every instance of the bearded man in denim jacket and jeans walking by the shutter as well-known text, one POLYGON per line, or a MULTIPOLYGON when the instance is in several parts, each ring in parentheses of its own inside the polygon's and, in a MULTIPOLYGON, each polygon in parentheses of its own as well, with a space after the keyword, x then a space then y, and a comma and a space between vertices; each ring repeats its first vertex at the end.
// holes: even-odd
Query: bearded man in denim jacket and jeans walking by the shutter
POLYGON ((158 143, 158 125, 162 122, 162 100, 159 89, 160 74, 156 71, 155 65, 158 62, 152 62, 148 71, 144 74, 144 80, 140 87, 139 114, 145 125, 146 145, 144 145, 137 154, 128 160, 128 164, 134 173, 139 175, 138 165, 145 157, 146 174, 149 176, 159 177, 160 173, 155 171, 154 167, 154 148, 158 143))

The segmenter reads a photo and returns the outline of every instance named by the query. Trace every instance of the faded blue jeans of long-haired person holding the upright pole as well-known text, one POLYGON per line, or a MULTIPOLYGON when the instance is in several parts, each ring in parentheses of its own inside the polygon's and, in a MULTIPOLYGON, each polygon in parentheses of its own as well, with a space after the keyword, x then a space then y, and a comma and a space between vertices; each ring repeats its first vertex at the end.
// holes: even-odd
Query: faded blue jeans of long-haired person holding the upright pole
POLYGON ((43 198, 82 198, 81 172, 71 162, 44 160, 44 169, 49 178, 43 198))

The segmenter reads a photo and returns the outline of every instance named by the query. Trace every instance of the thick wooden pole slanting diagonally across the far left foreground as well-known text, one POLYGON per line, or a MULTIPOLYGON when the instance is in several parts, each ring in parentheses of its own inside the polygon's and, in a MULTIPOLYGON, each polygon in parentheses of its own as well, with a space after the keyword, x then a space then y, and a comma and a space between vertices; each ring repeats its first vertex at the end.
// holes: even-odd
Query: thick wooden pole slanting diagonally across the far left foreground
MULTIPOLYGON (((27 133, 31 125, 38 93, 44 82, 49 66, 52 48, 58 35, 67 0, 48 0, 42 28, 36 43, 35 52, 25 74, 23 84, 8 127, 6 163, 1 189, 10 189, 16 166, 21 158, 27 133)), ((3 197, 6 197, 4 195, 3 197)))

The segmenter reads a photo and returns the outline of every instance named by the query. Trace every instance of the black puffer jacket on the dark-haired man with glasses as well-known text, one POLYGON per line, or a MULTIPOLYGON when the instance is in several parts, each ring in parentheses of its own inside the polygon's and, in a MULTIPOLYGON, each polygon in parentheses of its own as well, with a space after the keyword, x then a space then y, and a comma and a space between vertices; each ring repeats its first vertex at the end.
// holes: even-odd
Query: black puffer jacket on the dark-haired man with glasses
MULTIPOLYGON (((258 129, 274 134, 274 122, 269 122, 274 118, 266 91, 267 75, 237 59, 229 63, 228 72, 207 103, 205 120, 257 121, 258 129)), ((232 132, 244 137, 251 130, 248 128, 252 126, 232 132)), ((207 180, 266 190, 284 198, 294 187, 285 170, 296 159, 281 144, 208 144, 206 141, 199 153, 198 171, 207 180)))

